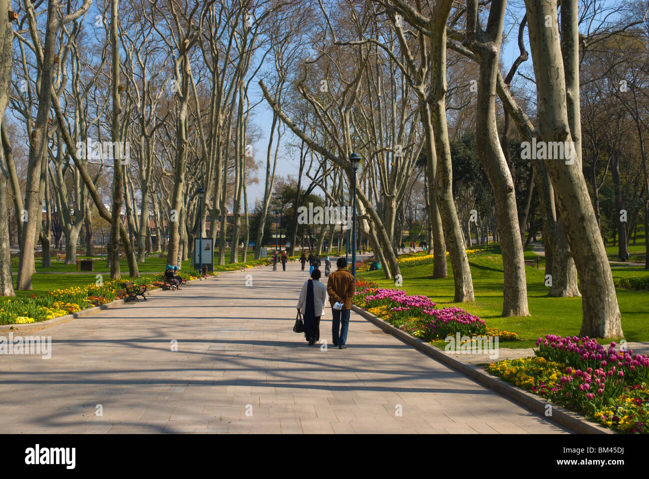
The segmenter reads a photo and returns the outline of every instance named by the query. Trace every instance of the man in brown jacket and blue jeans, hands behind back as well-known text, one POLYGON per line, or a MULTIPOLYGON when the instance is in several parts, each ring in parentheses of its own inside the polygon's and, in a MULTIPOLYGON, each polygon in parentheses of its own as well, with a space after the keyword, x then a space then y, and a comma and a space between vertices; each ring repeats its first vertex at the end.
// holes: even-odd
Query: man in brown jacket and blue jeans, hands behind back
POLYGON ((337 271, 329 275, 326 284, 326 291, 329 294, 332 310, 332 334, 334 346, 338 349, 347 349, 347 331, 349 330, 349 313, 352 310, 352 297, 356 291, 354 276, 347 271, 347 260, 338 258, 336 262, 337 271), (343 304, 341 310, 334 308, 334 304, 343 304))

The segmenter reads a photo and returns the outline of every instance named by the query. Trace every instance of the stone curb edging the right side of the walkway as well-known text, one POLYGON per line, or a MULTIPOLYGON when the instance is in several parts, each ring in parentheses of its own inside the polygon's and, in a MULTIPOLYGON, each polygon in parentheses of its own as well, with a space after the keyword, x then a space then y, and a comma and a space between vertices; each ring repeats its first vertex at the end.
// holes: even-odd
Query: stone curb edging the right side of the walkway
POLYGON ((618 434, 611 429, 585 419, 582 415, 564 408, 563 406, 559 406, 553 402, 548 402, 537 395, 533 395, 532 393, 528 393, 528 391, 512 386, 508 382, 490 375, 487 371, 484 371, 484 369, 476 365, 457 360, 450 354, 445 354, 445 352, 435 348, 422 339, 410 336, 410 334, 395 328, 395 326, 387 323, 380 317, 375 316, 354 304, 352 304, 352 310, 374 325, 380 327, 385 332, 395 336, 395 338, 401 339, 427 356, 452 367, 456 371, 459 371, 463 375, 482 384, 483 386, 493 389, 496 393, 519 403, 528 410, 532 410, 535 413, 545 416, 546 405, 552 404, 552 417, 548 417, 548 421, 557 423, 579 434, 618 434))

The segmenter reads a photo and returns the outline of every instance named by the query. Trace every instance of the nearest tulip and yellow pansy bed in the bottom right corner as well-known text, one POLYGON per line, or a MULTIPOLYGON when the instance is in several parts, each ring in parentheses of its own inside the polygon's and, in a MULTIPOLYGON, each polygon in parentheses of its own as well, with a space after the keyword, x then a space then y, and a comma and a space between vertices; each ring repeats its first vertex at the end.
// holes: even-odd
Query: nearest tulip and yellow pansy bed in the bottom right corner
POLYGON ((606 426, 649 433, 649 358, 608 348, 587 336, 537 340, 534 358, 506 360, 488 371, 606 426))

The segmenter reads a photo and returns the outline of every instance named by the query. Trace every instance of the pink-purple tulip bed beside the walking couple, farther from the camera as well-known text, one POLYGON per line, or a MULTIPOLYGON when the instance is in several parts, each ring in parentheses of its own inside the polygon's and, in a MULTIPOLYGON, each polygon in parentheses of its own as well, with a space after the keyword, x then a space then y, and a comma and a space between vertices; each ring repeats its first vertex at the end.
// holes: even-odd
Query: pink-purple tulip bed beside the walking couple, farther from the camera
POLYGON ((460 308, 437 309, 426 296, 378 288, 368 281, 356 282, 354 304, 424 341, 444 339, 457 332, 461 336, 482 336, 487 330, 482 319, 460 308))

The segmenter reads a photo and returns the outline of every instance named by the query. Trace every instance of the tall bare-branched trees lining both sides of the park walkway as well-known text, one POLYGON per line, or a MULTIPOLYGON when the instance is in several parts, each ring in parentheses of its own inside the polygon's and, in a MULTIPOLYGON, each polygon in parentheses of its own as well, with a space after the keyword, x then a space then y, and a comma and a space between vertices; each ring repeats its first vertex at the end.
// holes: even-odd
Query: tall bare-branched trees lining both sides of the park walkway
MULTIPOLYGON (((296 206, 352 203, 357 152, 358 226, 387 278, 400 273, 397 245, 418 220, 433 277, 448 275, 448 251, 454 299, 473 301, 465 248, 472 235, 497 238, 502 314, 528 315, 523 251, 538 232, 549 294, 583 295, 582 334, 622 336, 602 232, 623 256, 636 225, 648 228, 646 1, 21 0, 17 11, 2 32, 0 201, 13 197, 19 289, 31 288, 37 241, 46 262, 51 218, 73 262, 93 210, 110 223, 112 277, 120 239, 138 275, 149 217, 158 232, 168 227, 158 248, 176 264, 209 214, 201 234, 218 240, 223 264, 237 261, 240 241, 254 241, 258 258, 269 216, 290 204, 293 253, 304 233, 296 206), (271 117, 255 125, 260 106, 271 117), (88 154, 89 141, 112 154, 88 154), (294 175, 278 181, 285 161, 294 175), (251 218, 254 182, 263 194, 251 218)), ((0 215, 0 234, 8 221, 0 215)), ((307 236, 320 249, 335 229, 307 236)))

